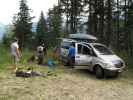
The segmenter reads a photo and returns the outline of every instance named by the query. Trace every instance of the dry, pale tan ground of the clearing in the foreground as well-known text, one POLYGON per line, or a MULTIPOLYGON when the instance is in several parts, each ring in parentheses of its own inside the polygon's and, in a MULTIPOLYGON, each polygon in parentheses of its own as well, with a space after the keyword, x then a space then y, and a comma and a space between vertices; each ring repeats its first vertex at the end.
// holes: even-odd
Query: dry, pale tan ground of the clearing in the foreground
POLYGON ((57 69, 57 76, 19 78, 0 73, 0 100, 133 100, 128 71, 118 78, 96 79, 88 71, 57 69))

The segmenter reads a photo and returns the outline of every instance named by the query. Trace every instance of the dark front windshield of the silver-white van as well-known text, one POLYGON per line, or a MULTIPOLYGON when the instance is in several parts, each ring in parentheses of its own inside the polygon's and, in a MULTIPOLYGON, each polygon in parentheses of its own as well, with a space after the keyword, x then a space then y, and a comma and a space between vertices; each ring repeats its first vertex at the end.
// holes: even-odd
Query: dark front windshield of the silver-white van
POLYGON ((112 55, 113 54, 113 52, 105 46, 102 46, 102 45, 93 45, 93 46, 101 55, 112 55))

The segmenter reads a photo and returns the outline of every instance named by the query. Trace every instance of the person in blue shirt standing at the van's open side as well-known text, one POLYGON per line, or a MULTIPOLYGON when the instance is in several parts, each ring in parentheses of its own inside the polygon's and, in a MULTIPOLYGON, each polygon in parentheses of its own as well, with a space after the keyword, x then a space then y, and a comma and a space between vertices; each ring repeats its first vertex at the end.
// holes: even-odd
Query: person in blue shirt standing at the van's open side
POLYGON ((68 50, 68 59, 69 59, 70 65, 73 67, 75 64, 75 44, 74 43, 71 44, 71 47, 68 50))

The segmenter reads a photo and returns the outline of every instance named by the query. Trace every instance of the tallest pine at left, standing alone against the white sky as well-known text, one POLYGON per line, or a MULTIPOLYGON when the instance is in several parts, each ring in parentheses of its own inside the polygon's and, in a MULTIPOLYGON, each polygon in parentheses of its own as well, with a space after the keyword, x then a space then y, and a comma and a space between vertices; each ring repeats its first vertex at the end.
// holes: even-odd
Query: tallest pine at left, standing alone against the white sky
POLYGON ((20 47, 29 46, 32 38, 32 20, 30 16, 30 9, 26 0, 20 1, 19 12, 14 16, 14 32, 15 36, 19 39, 20 47))

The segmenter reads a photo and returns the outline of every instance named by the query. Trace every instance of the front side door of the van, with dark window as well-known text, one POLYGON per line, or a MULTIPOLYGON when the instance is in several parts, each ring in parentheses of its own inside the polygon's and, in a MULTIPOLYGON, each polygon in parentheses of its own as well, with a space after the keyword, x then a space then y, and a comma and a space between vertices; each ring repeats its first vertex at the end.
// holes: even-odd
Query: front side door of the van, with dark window
POLYGON ((83 43, 76 43, 75 68, 89 69, 92 62, 91 48, 83 43))

